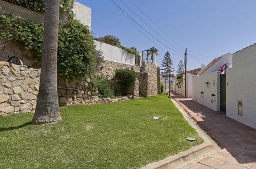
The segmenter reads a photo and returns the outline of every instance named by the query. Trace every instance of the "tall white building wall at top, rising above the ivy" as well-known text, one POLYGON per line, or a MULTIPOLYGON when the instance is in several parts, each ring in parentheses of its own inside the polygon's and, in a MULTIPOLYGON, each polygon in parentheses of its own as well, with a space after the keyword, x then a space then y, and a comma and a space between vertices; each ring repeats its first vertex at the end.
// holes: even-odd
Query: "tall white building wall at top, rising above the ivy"
POLYGON ((75 1, 73 13, 75 14, 75 18, 80 20, 82 24, 91 27, 91 8, 75 1))

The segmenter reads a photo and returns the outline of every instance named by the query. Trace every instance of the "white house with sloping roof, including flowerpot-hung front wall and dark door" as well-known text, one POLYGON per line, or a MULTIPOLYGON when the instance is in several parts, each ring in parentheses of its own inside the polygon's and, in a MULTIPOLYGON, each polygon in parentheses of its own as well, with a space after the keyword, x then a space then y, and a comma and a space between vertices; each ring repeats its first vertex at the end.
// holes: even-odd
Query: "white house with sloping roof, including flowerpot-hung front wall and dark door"
POLYGON ((221 70, 224 70, 224 65, 225 69, 232 67, 231 53, 213 59, 197 76, 192 77, 192 99, 214 111, 226 112, 225 91, 222 91, 225 87, 221 86, 221 70))

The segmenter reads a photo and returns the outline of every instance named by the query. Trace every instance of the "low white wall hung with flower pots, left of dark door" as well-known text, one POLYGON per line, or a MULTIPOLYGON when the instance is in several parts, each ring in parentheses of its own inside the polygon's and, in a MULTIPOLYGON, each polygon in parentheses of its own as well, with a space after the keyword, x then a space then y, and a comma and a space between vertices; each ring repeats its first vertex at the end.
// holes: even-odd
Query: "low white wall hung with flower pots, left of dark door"
POLYGON ((220 74, 218 72, 211 72, 203 75, 192 77, 192 98, 194 101, 205 105, 214 111, 220 109, 220 74), (205 82, 209 82, 210 86, 207 87, 205 82), (201 96, 201 91, 204 92, 204 97, 201 96), (213 97, 211 94, 215 94, 215 101, 211 100, 213 97))

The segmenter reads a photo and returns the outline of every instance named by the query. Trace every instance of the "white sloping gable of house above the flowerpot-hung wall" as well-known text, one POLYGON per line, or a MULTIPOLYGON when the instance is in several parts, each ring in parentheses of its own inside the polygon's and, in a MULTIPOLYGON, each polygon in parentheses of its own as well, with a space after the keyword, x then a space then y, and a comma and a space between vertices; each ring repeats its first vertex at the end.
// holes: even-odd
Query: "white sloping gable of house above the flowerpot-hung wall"
POLYGON ((227 64, 228 66, 232 65, 232 54, 227 53, 225 55, 222 55, 222 58, 220 58, 218 61, 216 61, 210 68, 208 68, 204 73, 210 73, 210 72, 216 72, 222 67, 224 64, 227 64))

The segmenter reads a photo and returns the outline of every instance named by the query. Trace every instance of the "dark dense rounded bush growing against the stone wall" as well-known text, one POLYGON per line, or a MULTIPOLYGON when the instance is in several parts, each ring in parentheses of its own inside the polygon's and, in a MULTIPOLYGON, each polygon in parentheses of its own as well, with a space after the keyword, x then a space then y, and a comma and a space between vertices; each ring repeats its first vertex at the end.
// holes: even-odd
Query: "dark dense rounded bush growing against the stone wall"
POLYGON ((129 69, 117 69, 115 70, 115 79, 120 87, 120 93, 126 96, 136 80, 137 73, 129 69))

